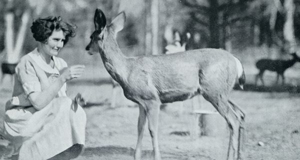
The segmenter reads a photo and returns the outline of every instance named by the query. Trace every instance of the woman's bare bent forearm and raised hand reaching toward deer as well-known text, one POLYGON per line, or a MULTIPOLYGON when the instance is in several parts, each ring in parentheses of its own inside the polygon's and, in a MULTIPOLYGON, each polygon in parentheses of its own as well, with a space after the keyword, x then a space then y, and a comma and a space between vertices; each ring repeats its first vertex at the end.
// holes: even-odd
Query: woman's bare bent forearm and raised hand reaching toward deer
POLYGON ((28 99, 34 108, 40 110, 45 107, 57 95, 62 85, 73 78, 81 76, 84 71, 84 65, 73 65, 64 70, 47 88, 38 92, 31 92, 28 99))

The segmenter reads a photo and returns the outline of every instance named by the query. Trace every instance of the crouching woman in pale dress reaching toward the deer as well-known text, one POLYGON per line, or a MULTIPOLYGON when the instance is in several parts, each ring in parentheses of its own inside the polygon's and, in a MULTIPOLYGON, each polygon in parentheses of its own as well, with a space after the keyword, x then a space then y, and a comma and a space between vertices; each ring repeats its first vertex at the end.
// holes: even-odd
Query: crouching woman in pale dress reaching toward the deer
POLYGON ((18 159, 70 159, 79 155, 85 140, 85 99, 66 96, 66 81, 81 76, 84 65, 67 67, 57 57, 75 26, 54 16, 33 21, 38 46, 15 68, 12 99, 6 102, 4 133, 18 159), (81 106, 80 106, 81 105, 81 106))

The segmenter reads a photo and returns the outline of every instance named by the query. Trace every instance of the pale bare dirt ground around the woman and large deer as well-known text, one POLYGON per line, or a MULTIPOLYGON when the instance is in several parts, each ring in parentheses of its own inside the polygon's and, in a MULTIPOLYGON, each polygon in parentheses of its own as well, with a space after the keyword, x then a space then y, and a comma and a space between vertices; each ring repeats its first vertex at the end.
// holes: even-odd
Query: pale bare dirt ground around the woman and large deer
MULTIPOLYGON (((10 98, 11 92, 12 84, 6 77, 0 86, 1 123, 4 103, 10 98)), ((89 103, 84 107, 87 114, 86 148, 76 159, 133 159, 138 108, 126 100, 122 100, 116 108, 109 108, 111 85, 105 71, 92 70, 85 79, 69 82, 70 97, 77 92, 82 92, 89 103)), ((246 159, 300 159, 299 93, 233 90, 230 97, 246 113, 246 159), (258 145, 258 142, 262 145, 258 145)), ((203 102, 203 105, 206 104, 203 102)), ((207 106, 212 107, 209 104, 207 106)), ((177 111, 178 104, 175 103, 165 107, 159 115, 162 159, 226 159, 228 133, 196 137, 170 134, 174 131, 190 131, 190 114, 187 111, 178 114, 177 111)), ((152 159, 147 129, 142 149, 142 159, 152 159)), ((7 149, 0 146, 0 155, 5 152, 7 149)))

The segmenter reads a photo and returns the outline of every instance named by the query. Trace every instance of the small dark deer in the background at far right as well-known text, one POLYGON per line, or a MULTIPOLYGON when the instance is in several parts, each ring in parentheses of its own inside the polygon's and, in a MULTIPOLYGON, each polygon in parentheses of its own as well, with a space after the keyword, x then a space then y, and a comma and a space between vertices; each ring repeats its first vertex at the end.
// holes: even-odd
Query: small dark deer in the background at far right
POLYGON ((262 75, 265 70, 277 72, 276 84, 278 84, 279 75, 282 79, 282 84, 284 84, 284 71, 291 67, 295 62, 299 62, 300 58, 296 53, 291 53, 292 59, 281 60, 281 59, 260 59, 256 62, 256 67, 259 69, 259 73, 255 76, 255 85, 257 85, 258 78, 260 78, 262 85, 264 81, 262 75))

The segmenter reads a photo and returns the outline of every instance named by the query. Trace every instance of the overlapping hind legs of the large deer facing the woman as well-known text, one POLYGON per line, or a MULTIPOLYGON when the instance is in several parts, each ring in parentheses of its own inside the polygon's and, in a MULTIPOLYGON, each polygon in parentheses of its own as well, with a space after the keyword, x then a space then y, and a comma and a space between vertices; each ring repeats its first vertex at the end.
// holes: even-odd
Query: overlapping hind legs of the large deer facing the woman
POLYGON ((231 104, 226 94, 215 92, 214 94, 203 93, 203 97, 208 100, 216 110, 223 116, 229 127, 229 145, 227 152, 227 160, 243 159, 243 117, 244 114, 236 105, 231 104), (240 132, 241 131, 241 132, 240 132), (241 149, 241 150, 239 150, 241 149))

